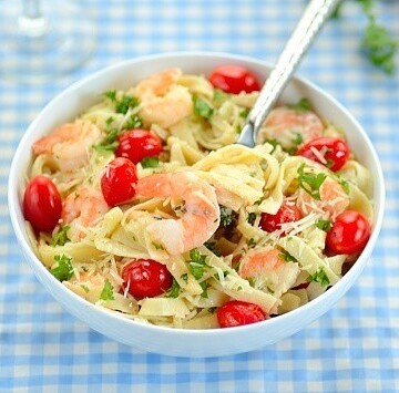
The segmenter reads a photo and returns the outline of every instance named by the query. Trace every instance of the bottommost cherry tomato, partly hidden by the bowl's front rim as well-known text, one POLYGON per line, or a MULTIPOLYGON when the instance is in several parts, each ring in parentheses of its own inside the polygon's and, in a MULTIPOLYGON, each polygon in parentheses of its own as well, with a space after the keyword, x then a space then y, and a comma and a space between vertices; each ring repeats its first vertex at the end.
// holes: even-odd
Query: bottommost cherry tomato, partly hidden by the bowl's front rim
POLYGON ((239 300, 231 300, 217 309, 217 321, 221 328, 239 327, 260 322, 266 319, 259 306, 239 300))

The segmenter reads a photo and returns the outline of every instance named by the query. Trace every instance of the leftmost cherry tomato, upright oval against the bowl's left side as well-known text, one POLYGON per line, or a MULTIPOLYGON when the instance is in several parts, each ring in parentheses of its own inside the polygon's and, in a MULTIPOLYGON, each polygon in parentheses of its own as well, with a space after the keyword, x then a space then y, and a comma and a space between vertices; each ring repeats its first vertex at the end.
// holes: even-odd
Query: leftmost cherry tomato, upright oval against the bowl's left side
POLYGON ((51 232, 61 218, 61 196, 54 183, 38 175, 27 185, 23 215, 35 230, 51 232))

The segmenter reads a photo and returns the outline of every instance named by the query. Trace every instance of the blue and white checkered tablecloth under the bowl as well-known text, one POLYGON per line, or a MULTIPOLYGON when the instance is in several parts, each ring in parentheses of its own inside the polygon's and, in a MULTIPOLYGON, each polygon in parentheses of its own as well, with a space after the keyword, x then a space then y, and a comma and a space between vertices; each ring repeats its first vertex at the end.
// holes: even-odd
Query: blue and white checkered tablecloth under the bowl
MULTIPOLYGON (((387 211, 377 248, 332 310, 263 350, 168 358, 90 330, 37 281, 11 229, 7 180, 17 144, 43 105, 100 68, 149 53, 224 51, 273 63, 305 0, 85 4, 99 27, 98 50, 89 63, 48 84, 0 80, 0 391, 399 392, 399 73, 387 77, 362 58, 366 19, 355 1, 348 0, 340 20, 328 23, 298 71, 360 121, 386 176, 387 211)), ((399 39, 399 1, 379 1, 378 13, 399 39)))

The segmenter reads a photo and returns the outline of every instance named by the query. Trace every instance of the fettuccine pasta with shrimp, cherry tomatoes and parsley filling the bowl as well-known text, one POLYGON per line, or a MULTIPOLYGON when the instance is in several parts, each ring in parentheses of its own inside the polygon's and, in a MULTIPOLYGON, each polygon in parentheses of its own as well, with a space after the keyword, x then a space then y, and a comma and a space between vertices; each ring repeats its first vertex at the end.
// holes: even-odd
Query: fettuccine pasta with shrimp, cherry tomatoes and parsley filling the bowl
POLYGON ((234 65, 167 69, 37 141, 23 211, 49 271, 182 329, 278 318, 334 286, 370 236, 369 170, 306 99, 236 144, 259 86, 234 65))

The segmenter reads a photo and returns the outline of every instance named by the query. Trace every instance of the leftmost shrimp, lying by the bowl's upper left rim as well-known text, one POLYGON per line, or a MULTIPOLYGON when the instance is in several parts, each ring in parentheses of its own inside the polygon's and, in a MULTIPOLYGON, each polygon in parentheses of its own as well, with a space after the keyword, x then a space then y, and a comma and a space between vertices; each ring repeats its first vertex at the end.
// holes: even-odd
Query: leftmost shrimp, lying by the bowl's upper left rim
POLYGON ((88 121, 75 121, 55 128, 33 144, 34 154, 49 154, 62 172, 89 163, 89 149, 101 138, 100 128, 88 121))

